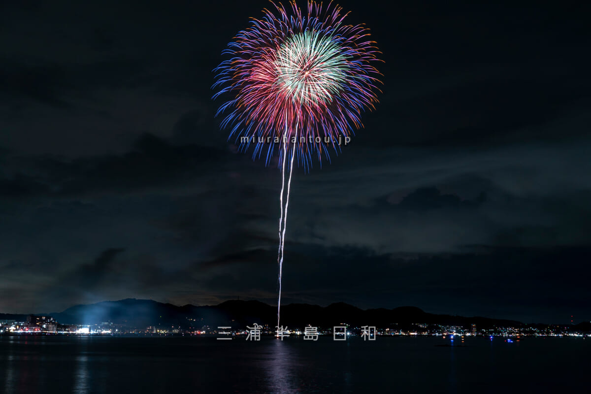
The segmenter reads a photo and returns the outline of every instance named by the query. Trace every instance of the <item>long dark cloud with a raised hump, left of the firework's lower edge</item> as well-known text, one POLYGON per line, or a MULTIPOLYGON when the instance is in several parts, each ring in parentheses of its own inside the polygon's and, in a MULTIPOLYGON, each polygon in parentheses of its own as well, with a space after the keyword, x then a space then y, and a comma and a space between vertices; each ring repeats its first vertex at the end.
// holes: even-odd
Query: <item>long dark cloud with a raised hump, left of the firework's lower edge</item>
MULTIPOLYGON (((207 165, 217 165, 222 151, 197 145, 172 145, 145 133, 122 155, 76 159, 55 156, 15 158, 16 172, 0 179, 0 196, 40 194, 82 196, 104 191, 131 191, 179 184, 199 175, 207 165), (18 170, 17 170, 18 171, 18 170)), ((6 171, 9 172, 9 171, 6 171)))

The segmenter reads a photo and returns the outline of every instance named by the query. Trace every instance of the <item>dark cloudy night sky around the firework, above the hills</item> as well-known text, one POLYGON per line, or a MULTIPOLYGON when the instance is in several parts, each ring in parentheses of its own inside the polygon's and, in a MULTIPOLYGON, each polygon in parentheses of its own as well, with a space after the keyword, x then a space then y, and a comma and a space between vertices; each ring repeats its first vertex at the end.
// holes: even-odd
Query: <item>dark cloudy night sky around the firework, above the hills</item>
MULTIPOLYGON (((0 312, 277 296, 281 174, 215 118, 267 1, 7 2, 0 312)), ((340 2, 385 63, 332 163, 294 170, 284 302, 591 320, 588 12, 340 2)))

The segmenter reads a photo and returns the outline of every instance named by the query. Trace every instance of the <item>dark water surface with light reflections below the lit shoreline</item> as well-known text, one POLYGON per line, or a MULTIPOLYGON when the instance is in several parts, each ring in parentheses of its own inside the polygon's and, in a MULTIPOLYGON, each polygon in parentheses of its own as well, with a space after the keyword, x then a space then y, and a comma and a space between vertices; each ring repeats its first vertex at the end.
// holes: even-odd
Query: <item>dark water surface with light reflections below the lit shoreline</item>
POLYGON ((589 392, 584 338, 0 336, 0 392, 589 392), (441 346, 445 345, 445 346, 441 346))

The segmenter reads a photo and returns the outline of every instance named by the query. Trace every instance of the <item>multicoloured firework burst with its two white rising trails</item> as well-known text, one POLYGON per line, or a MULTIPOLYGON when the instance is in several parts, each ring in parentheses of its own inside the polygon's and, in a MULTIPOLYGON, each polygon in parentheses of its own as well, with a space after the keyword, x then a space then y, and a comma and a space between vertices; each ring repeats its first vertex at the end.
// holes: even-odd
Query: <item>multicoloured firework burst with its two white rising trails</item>
POLYGON ((313 157, 322 164, 323 156, 330 161, 330 150, 339 154, 343 138, 350 139, 362 127, 361 113, 375 109, 381 74, 374 67, 379 51, 369 30, 345 24, 348 14, 342 14, 340 6, 309 1, 307 12, 302 12, 294 1, 288 8, 271 4, 272 11, 264 9, 261 19, 252 18, 250 27, 238 32, 223 51, 231 58, 215 69, 212 88, 219 88, 214 98, 231 95, 216 113, 227 112, 220 126, 230 129, 229 139, 235 138, 243 151, 254 145, 253 158, 266 151, 267 164, 275 148, 279 151, 279 328, 294 158, 307 172, 313 157))

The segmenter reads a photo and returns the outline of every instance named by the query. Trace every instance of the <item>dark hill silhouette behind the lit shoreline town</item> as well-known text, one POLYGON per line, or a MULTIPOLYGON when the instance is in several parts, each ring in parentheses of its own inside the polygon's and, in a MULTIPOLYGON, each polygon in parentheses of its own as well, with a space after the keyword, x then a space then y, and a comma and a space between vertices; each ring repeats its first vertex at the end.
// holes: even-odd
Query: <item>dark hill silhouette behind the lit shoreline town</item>
MULTIPOLYGON (((62 324, 100 324, 112 322, 128 327, 148 326, 201 328, 230 325, 241 328, 246 325, 277 324, 277 307, 260 301, 230 300, 218 305, 173 305, 151 299, 127 298, 119 301, 103 301, 96 304, 76 305, 63 312, 50 313, 62 324)), ((4 315, 0 319, 24 320, 26 315, 4 315)), ((333 325, 376 325, 378 327, 407 328, 413 324, 444 324, 468 327, 476 324, 486 327, 519 327, 513 320, 486 317, 463 317, 425 312, 417 307, 362 310, 353 305, 337 302, 327 307, 310 304, 287 304, 281 308, 281 324, 288 327, 332 327, 333 325)))

